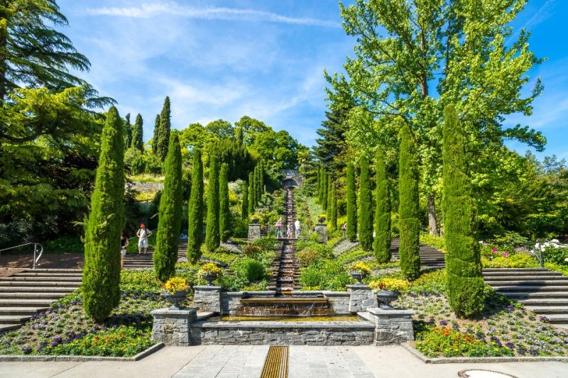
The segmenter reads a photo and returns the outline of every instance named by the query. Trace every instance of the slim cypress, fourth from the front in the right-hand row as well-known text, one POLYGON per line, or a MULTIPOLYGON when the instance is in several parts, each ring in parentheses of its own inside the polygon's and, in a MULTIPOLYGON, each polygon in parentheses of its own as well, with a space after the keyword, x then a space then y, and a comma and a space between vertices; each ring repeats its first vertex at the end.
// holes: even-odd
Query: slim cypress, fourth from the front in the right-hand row
POLYGON ((368 159, 361 156, 359 177, 359 242, 363 250, 373 249, 373 193, 369 177, 368 159))

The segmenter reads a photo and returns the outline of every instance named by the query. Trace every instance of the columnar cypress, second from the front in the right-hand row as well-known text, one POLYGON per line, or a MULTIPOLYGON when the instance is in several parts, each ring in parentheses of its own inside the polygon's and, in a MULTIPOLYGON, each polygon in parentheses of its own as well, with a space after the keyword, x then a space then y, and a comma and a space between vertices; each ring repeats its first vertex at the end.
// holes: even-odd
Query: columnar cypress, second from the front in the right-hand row
POLYGON ((408 125, 400 129, 399 156, 400 270, 408 279, 420 275, 420 220, 416 145, 408 125))

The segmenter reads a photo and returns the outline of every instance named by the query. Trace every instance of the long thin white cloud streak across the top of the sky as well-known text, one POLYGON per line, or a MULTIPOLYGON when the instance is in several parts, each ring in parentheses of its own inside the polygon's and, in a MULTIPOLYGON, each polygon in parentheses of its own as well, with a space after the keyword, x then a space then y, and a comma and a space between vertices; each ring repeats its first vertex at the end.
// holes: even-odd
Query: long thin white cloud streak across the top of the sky
POLYGON ((309 17, 289 17, 267 11, 254 9, 233 9, 225 7, 195 8, 181 6, 175 3, 166 4, 141 4, 138 7, 103 7, 87 9, 87 13, 94 16, 119 16, 132 18, 151 18, 159 14, 170 14, 187 18, 205 20, 227 21, 265 21, 273 23, 288 23, 305 26, 321 26, 324 28, 341 28, 336 21, 320 20, 309 17))

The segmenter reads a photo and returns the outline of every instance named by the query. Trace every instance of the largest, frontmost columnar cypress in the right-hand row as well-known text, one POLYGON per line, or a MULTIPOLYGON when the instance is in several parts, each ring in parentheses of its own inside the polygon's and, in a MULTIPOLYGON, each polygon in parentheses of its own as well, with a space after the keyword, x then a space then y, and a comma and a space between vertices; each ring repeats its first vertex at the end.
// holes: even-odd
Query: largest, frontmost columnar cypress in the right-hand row
POLYGON ((457 316, 471 316, 484 308, 484 279, 476 242, 475 204, 467 172, 464 133, 453 105, 444 109, 444 237, 449 304, 457 316))

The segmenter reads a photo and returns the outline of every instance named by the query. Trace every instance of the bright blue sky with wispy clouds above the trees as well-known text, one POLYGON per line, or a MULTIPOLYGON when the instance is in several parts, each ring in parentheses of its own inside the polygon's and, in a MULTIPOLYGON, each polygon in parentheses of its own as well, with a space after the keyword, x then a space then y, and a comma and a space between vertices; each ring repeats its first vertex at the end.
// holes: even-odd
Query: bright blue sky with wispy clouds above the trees
MULTIPOLYGON (((141 113, 153 133, 165 96, 173 127, 247 115, 312 145, 324 118, 324 68, 342 70, 353 38, 341 27, 336 0, 58 1, 64 33, 92 63, 81 76, 119 101, 121 115, 141 113)), ((515 21, 532 30, 544 64, 530 72, 545 92, 530 117, 509 116, 542 130, 542 154, 568 158, 568 1, 534 0, 515 21)), ((524 145, 511 147, 523 152, 524 145)))

